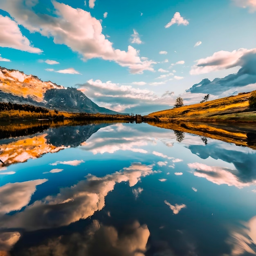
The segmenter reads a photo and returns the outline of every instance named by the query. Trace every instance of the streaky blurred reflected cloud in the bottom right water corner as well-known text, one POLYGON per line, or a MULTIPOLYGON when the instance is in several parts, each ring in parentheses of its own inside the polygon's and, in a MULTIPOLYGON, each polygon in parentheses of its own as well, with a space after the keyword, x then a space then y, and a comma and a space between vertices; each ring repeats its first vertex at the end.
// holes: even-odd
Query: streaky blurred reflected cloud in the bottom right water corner
POLYGON ((231 256, 256 255, 256 216, 231 230, 227 243, 232 248, 231 256))

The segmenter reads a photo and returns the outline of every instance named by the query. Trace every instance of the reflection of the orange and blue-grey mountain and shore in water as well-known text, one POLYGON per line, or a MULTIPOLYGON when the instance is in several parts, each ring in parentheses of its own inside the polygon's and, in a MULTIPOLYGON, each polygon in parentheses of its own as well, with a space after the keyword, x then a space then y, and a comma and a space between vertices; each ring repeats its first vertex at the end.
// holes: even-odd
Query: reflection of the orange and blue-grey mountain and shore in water
POLYGON ((1 137, 5 138, 7 135, 11 137, 9 139, 2 139, 2 143, 0 141, 1 160, 5 166, 8 166, 19 162, 26 162, 31 158, 41 157, 46 153, 58 152, 67 146, 79 146, 94 132, 110 124, 112 123, 91 124, 87 122, 87 124, 81 125, 81 122, 65 120, 64 122, 57 123, 46 121, 36 124, 0 126, 0 129, 4 131, 1 137), (63 124, 67 125, 63 126, 63 124), (38 134, 38 132, 40 133, 38 134), (31 136, 31 134, 35 133, 37 133, 35 136, 31 136), (24 136, 16 137, 17 135, 24 136))

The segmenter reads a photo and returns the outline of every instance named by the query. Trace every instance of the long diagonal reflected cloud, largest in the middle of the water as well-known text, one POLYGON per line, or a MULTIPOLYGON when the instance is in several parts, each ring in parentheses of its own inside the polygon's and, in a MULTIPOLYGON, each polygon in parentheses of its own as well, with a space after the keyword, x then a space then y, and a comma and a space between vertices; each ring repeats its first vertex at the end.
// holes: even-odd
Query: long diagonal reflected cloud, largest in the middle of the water
POLYGON ((37 200, 22 212, 3 216, 0 219, 0 227, 33 231, 66 226, 86 219, 105 207, 105 198, 114 189, 115 184, 128 182, 129 186, 135 186, 141 177, 156 173, 152 168, 152 165, 134 163, 103 177, 89 174, 86 180, 81 180, 71 187, 61 188, 57 195, 37 200))

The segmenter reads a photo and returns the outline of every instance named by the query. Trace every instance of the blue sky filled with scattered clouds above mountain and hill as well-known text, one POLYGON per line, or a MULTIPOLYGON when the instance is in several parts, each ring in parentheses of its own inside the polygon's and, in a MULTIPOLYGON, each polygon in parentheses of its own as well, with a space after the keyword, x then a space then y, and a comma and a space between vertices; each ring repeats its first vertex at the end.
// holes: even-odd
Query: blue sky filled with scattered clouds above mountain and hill
POLYGON ((256 90, 255 24, 256 0, 0 0, 0 66, 146 114, 256 90))

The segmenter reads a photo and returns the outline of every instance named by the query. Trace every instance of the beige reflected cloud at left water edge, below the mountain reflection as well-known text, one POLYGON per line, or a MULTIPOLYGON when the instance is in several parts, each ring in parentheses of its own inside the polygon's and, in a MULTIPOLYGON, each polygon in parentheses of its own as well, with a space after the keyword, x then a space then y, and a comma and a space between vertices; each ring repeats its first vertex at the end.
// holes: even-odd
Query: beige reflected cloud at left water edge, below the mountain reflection
POLYGON ((0 214, 18 211, 25 207, 36 191, 36 186, 47 182, 30 180, 26 182, 8 183, 0 187, 0 214))

